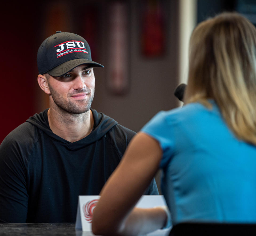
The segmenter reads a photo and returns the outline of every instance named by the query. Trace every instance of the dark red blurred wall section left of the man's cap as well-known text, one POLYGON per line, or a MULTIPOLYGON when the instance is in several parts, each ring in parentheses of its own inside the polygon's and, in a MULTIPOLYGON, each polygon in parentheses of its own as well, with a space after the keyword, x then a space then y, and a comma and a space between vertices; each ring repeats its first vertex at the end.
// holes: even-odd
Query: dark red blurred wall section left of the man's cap
POLYGON ((38 15, 35 6, 6 3, 1 10, 0 143, 36 112, 38 15), (12 5, 11 5, 12 4, 12 5))

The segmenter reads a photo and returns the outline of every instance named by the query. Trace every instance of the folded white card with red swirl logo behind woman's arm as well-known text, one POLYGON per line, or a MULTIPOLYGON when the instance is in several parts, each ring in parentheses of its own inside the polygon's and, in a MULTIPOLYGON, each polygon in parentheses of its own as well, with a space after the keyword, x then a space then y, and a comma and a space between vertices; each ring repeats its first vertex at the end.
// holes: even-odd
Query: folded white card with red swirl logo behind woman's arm
MULTIPOLYGON (((75 222, 76 229, 82 229, 82 231, 87 231, 87 232, 91 231, 91 221, 93 216, 93 210, 99 198, 100 196, 79 196, 78 197, 77 219, 75 222)), ((140 200, 137 202, 136 207, 151 208, 154 206, 163 206, 163 205, 166 205, 165 198, 163 197, 163 195, 143 195, 140 198, 140 200)), ((151 234, 148 234, 148 235, 151 235, 151 234)), ((162 234, 159 233, 158 235, 164 235, 164 234, 162 232, 162 234)))

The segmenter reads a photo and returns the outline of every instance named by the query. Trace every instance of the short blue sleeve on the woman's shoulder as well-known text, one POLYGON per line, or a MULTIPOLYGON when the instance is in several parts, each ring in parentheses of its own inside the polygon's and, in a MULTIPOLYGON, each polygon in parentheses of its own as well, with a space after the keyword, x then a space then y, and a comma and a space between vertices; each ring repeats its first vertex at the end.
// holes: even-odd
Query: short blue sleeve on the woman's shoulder
POLYGON ((158 141, 162 148, 163 156, 160 168, 163 168, 173 154, 173 140, 171 139, 171 124, 168 117, 169 112, 160 111, 142 129, 143 133, 158 141))

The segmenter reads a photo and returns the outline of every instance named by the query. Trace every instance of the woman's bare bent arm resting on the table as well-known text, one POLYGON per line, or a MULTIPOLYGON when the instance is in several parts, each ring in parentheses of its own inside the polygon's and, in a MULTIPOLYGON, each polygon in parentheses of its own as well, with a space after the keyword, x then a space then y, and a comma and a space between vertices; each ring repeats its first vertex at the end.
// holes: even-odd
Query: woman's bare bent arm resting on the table
POLYGON ((100 193, 93 212, 94 234, 138 235, 163 227, 166 222, 163 209, 133 210, 157 172, 161 157, 159 143, 149 135, 140 132, 131 140, 100 193))

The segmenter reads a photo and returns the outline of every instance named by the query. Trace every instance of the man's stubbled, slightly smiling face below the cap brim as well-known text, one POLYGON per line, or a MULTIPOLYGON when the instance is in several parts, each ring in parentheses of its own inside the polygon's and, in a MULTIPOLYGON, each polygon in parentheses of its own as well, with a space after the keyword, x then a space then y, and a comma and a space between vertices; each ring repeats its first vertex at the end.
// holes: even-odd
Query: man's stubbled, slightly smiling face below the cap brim
POLYGON ((57 106, 72 114, 82 114, 90 110, 95 86, 91 65, 79 65, 63 76, 48 77, 50 106, 57 106))

